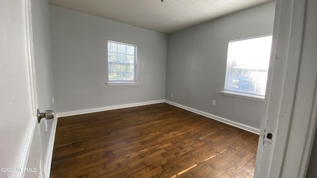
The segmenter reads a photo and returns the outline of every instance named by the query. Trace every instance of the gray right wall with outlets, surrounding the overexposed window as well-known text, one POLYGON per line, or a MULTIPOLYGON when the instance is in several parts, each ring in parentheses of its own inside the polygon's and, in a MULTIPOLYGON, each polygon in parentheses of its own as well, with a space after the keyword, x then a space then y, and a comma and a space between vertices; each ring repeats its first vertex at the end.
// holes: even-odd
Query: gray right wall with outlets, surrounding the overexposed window
POLYGON ((263 102, 220 91, 228 42, 271 34, 274 10, 268 2, 168 35, 165 99, 260 129, 263 102))

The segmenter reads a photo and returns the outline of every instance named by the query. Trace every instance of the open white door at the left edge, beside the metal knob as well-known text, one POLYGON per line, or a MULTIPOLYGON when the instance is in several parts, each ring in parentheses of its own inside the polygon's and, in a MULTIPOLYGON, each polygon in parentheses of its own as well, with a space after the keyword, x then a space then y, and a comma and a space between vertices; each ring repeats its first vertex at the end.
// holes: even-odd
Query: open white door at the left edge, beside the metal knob
POLYGON ((42 144, 36 118, 28 0, 0 1, 0 177, 39 178, 42 144))

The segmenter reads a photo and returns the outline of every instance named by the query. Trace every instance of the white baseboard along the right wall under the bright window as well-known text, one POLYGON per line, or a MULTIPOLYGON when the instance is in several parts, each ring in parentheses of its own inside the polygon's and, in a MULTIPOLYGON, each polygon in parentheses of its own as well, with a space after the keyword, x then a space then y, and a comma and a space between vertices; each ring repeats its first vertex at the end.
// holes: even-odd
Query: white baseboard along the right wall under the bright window
POLYGON ((200 114, 200 115, 202 115, 202 116, 211 118, 211 119, 213 119, 213 120, 216 120, 216 121, 219 121, 219 122, 228 124, 228 125, 230 125, 230 126, 233 126, 233 127, 236 127, 236 128, 239 128, 239 129, 242 129, 242 130, 245 130, 245 131, 254 133, 254 134, 260 134, 260 129, 257 129, 257 128, 253 128, 253 127, 250 127, 250 126, 241 124, 241 123, 237 123, 237 122, 234 122, 234 121, 230 121, 230 120, 228 120, 228 119, 225 119, 225 118, 222 118, 222 117, 219 117, 219 116, 215 116, 215 115, 213 115, 213 114, 210 114, 210 113, 207 113, 207 112, 203 112, 203 111, 200 111, 200 110, 197 110, 197 109, 193 109, 193 108, 190 108, 190 107, 187 107, 187 106, 184 106, 184 105, 181 105, 181 104, 172 102, 172 101, 165 100, 165 103, 168 103, 168 104, 171 104, 171 105, 173 105, 173 106, 176 106, 176 107, 185 109, 185 110, 187 110, 187 111, 191 111, 191 112, 193 112, 193 113, 200 114))

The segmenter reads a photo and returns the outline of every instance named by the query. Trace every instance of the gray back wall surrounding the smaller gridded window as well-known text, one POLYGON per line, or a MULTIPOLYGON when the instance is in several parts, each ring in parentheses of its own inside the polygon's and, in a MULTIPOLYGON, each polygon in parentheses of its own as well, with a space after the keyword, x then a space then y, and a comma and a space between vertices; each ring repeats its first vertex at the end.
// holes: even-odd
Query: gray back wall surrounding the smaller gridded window
POLYGON ((53 5, 50 17, 58 112, 164 98, 165 34, 53 5), (138 85, 105 85, 108 39, 138 46, 138 85))

